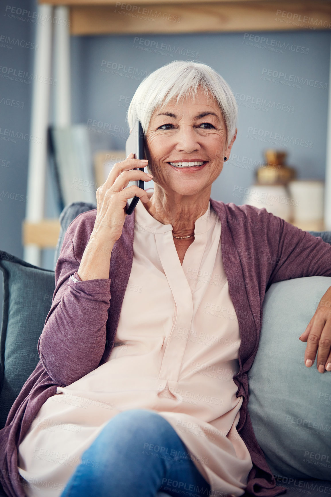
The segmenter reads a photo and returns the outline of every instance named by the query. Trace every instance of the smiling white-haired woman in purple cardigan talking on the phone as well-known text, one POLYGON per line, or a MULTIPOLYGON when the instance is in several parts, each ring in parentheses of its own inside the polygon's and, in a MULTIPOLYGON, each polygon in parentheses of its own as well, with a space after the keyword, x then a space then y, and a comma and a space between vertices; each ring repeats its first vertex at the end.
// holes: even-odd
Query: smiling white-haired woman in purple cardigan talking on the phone
MULTIPOLYGON (((284 492, 254 437, 247 372, 266 289, 331 276, 331 247, 265 209, 210 199, 236 116, 204 64, 172 62, 139 85, 128 121, 143 125, 147 160, 116 164, 96 210, 67 230, 40 362, 0 432, 9 496, 284 492), (127 187, 151 179, 143 166, 153 192, 127 187)), ((323 309, 301 337, 321 373, 323 309)))

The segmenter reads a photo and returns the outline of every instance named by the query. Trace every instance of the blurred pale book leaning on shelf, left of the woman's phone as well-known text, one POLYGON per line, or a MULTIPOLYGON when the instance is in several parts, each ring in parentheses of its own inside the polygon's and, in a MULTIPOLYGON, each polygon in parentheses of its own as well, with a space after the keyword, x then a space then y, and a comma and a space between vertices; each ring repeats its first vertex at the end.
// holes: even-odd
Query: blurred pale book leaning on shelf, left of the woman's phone
POLYGON ((50 132, 59 195, 66 206, 72 202, 95 203, 96 182, 86 126, 53 127, 50 132))

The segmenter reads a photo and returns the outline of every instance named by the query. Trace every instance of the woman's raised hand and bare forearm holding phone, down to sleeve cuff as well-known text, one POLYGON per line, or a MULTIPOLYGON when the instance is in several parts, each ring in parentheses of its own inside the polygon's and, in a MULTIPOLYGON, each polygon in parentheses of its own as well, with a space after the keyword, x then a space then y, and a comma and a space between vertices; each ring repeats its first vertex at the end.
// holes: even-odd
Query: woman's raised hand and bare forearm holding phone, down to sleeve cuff
POLYGON ((109 278, 111 251, 122 235, 127 200, 137 196, 142 202, 148 202, 147 192, 142 188, 135 185, 126 188, 129 181, 152 179, 152 174, 133 170, 147 164, 148 160, 133 159, 130 154, 124 161, 114 164, 106 181, 96 190, 94 228, 77 271, 83 281, 109 278))

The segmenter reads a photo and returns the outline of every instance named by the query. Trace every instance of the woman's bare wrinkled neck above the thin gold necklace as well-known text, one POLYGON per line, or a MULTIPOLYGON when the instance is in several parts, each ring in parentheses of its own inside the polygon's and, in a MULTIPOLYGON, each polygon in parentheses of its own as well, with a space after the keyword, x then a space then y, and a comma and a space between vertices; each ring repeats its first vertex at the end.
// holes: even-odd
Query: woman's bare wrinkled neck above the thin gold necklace
POLYGON ((195 221, 208 209, 210 190, 187 196, 165 192, 155 184, 154 192, 148 192, 146 210, 162 224, 171 224, 173 235, 185 237, 194 234, 195 221))

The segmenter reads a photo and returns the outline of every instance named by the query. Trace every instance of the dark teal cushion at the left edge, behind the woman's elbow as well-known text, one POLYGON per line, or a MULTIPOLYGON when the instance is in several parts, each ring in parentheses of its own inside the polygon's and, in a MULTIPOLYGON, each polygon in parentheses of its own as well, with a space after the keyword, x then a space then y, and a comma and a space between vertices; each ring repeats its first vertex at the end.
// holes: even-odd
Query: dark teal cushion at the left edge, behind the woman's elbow
POLYGON ((0 428, 36 367, 37 343, 51 308, 54 271, 0 251, 3 310, 0 332, 0 428))

